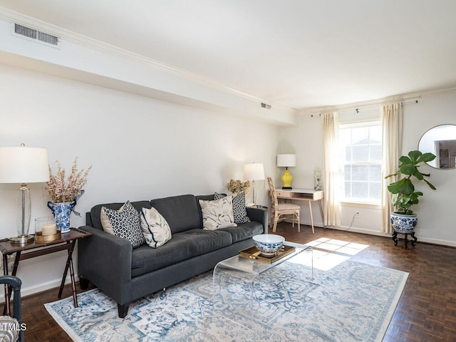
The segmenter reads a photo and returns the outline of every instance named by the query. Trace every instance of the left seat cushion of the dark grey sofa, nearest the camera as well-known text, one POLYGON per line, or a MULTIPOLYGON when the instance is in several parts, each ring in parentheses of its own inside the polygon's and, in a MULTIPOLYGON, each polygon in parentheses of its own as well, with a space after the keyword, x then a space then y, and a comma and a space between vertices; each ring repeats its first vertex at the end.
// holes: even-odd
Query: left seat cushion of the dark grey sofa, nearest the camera
POLYGON ((208 231, 201 228, 172 234, 162 247, 152 249, 146 244, 133 250, 132 276, 140 276, 156 269, 176 264, 232 244, 229 232, 208 231))

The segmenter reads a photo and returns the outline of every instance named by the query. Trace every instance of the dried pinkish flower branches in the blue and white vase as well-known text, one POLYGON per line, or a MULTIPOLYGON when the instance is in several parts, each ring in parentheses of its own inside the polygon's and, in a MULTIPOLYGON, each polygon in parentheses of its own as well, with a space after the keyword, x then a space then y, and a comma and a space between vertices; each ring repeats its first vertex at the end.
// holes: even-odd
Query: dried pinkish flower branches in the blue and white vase
POLYGON ((76 157, 71 167, 71 174, 66 180, 66 172, 62 169, 60 162, 56 160, 55 163, 57 164, 57 173, 54 176, 51 166, 49 166, 49 182, 46 191, 54 203, 73 202, 75 197, 81 194, 84 185, 86 185, 87 176, 92 167, 78 171, 78 157, 76 157))

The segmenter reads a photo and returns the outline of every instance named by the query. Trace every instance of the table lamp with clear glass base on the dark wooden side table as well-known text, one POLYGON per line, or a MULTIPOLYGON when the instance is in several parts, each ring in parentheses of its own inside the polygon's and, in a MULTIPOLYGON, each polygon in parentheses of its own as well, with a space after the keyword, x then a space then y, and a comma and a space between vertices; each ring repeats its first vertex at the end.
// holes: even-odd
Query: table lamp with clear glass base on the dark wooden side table
POLYGON ((10 238, 12 244, 26 244, 33 240, 30 227, 30 190, 28 183, 48 182, 48 150, 39 147, 0 147, 0 183, 21 185, 17 197, 18 236, 10 238))

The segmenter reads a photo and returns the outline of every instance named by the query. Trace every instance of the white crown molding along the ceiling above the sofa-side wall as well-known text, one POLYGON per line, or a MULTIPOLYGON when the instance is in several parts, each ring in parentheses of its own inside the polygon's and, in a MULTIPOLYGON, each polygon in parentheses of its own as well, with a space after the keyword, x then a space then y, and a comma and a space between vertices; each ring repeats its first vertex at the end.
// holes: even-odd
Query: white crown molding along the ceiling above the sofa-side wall
POLYGON ((140 63, 145 65, 149 68, 155 68, 160 71, 165 71, 166 73, 170 73, 172 75, 186 78, 190 81, 195 81, 197 83, 202 83, 205 86, 209 86, 211 88, 215 88, 217 90, 222 90, 226 93, 231 93, 232 95, 237 95, 242 98, 246 98, 247 100, 252 100, 258 102, 259 105, 261 103, 266 103, 271 105, 271 107, 277 108, 279 110, 284 110, 288 113, 292 114, 299 114, 299 110, 295 108, 287 107, 286 105, 281 105, 279 103, 274 103, 271 100, 267 100, 265 98, 259 98, 258 96, 251 95, 249 93, 244 93, 241 90, 237 90, 235 88, 231 88, 229 86, 224 86, 221 83, 217 83, 214 81, 209 80, 208 78, 204 78, 199 76, 195 73, 190 73, 189 71, 182 70, 180 68, 175 68, 174 66, 167 65, 166 63, 162 63, 160 61, 155 61, 152 58, 147 58, 142 56, 138 53, 133 53, 131 51, 125 50, 123 48, 119 48, 118 46, 113 46, 108 43, 104 43, 103 41, 98 41, 96 39, 83 36, 79 33, 70 31, 66 28, 62 28, 61 26, 56 26, 53 24, 49 24, 46 21, 41 21, 35 19, 31 16, 26 16, 25 14, 21 14, 16 11, 11 11, 9 9, 5 9, 4 7, 0 6, 0 19, 4 19, 5 21, 9 21, 11 23, 17 23, 24 26, 28 26, 31 28, 35 28, 36 30, 43 31, 44 33, 51 34, 52 36, 57 36, 60 39, 65 41, 69 41, 71 43, 76 43, 80 46, 84 46, 86 48, 91 48, 96 51, 100 51, 102 53, 107 53, 110 56, 115 56, 119 58, 124 58, 126 60, 134 61, 136 63, 140 63))

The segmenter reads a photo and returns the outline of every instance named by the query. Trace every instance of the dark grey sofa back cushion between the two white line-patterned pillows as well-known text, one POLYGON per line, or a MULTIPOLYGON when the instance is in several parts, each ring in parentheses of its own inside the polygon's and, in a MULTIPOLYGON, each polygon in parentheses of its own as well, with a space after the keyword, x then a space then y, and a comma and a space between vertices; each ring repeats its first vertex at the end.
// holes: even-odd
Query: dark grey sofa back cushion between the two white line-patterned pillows
POLYGON ((193 195, 152 199, 150 205, 165 217, 172 234, 202 227, 197 201, 193 195))

